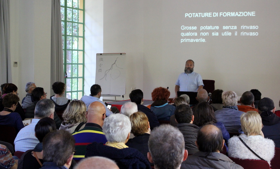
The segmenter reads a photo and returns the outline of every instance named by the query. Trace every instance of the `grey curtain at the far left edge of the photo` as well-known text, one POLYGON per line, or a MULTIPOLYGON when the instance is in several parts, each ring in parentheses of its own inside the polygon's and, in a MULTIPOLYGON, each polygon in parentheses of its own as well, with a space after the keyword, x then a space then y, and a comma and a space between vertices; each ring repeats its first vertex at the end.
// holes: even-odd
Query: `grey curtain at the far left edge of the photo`
POLYGON ((0 0, 0 85, 3 83, 12 83, 10 0, 0 0))

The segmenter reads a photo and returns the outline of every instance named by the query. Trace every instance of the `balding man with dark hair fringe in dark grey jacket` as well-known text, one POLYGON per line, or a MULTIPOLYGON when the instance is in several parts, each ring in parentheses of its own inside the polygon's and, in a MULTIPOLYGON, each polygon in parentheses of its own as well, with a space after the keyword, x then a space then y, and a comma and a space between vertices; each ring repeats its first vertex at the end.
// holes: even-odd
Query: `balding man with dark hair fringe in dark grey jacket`
POLYGON ((225 140, 222 131, 214 125, 205 125, 197 135, 196 145, 199 152, 189 156, 181 169, 243 169, 235 164, 222 151, 225 140))

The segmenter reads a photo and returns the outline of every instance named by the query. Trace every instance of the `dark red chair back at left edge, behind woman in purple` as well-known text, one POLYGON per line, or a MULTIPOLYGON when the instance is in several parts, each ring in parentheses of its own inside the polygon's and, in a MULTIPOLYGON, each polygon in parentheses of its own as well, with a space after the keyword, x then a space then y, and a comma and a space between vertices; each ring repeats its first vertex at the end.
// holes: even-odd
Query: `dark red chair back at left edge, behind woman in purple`
POLYGON ((11 126, 0 125, 0 140, 8 142, 14 146, 14 139, 17 136, 16 129, 11 126))

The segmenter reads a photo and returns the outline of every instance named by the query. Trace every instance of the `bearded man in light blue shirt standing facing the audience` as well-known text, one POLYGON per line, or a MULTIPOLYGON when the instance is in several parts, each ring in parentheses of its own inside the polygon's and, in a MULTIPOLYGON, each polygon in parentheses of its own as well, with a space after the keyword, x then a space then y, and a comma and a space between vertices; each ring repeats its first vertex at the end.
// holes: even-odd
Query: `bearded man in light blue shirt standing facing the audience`
POLYGON ((193 60, 186 61, 185 72, 179 75, 175 85, 175 98, 177 98, 177 91, 197 92, 203 88, 204 84, 202 82, 201 75, 194 72, 193 60))

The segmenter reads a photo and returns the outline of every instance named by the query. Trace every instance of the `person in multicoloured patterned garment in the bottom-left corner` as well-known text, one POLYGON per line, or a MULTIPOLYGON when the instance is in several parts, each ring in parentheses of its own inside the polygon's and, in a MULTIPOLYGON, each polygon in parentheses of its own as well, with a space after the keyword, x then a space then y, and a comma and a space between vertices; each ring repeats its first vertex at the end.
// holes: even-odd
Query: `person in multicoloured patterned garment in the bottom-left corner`
POLYGON ((0 168, 18 168, 18 164, 15 162, 10 150, 3 144, 0 144, 0 168))

